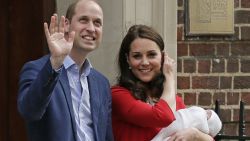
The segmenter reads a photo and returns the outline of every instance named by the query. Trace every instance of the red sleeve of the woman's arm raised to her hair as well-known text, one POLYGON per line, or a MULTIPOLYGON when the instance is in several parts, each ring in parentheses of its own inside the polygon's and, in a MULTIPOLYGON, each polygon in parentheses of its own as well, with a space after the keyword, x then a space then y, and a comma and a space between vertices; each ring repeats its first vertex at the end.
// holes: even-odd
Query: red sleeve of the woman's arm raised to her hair
POLYGON ((141 127, 165 127, 175 120, 174 114, 167 102, 159 100, 151 106, 141 100, 136 100, 125 88, 112 88, 113 114, 123 121, 141 127))

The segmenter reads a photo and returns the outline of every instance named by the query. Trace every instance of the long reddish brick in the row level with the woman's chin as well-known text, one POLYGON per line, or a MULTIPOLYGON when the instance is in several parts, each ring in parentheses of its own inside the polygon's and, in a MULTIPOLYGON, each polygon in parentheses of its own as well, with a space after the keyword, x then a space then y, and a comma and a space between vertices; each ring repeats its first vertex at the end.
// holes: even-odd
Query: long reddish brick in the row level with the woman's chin
POLYGON ((214 76, 195 76, 192 78, 193 89, 218 89, 219 77, 214 76))

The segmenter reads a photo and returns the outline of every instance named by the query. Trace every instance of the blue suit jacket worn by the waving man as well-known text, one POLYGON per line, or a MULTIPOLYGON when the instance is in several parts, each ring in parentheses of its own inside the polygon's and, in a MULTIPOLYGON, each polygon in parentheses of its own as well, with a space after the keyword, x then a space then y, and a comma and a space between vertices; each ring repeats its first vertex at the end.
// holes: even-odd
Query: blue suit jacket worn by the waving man
MULTIPOLYGON (((53 71, 49 55, 24 65, 19 81, 18 110, 30 141, 76 141, 76 123, 66 70, 53 71)), ((91 69, 87 77, 96 141, 112 141, 108 80, 91 69)))

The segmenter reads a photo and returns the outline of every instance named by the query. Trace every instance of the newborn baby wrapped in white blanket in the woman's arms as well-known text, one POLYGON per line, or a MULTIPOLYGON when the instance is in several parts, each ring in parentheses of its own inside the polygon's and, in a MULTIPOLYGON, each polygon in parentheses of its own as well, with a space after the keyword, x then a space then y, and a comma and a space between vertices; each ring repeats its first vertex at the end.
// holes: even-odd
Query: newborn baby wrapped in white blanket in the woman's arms
POLYGON ((178 110, 174 115, 175 121, 168 127, 162 128, 151 141, 166 141, 173 133, 190 127, 215 137, 222 127, 220 118, 213 110, 192 106, 178 110))

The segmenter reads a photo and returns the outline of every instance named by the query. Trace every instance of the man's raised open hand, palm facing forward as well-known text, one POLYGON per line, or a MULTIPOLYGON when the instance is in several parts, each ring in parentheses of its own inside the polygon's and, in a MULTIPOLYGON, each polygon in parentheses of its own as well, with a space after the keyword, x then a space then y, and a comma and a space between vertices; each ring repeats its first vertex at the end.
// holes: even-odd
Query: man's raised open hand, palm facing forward
POLYGON ((44 32, 50 50, 50 60, 53 69, 58 69, 63 64, 65 57, 70 53, 75 32, 69 33, 69 38, 66 40, 65 35, 65 17, 62 16, 58 24, 57 14, 51 16, 50 25, 44 23, 44 32))

